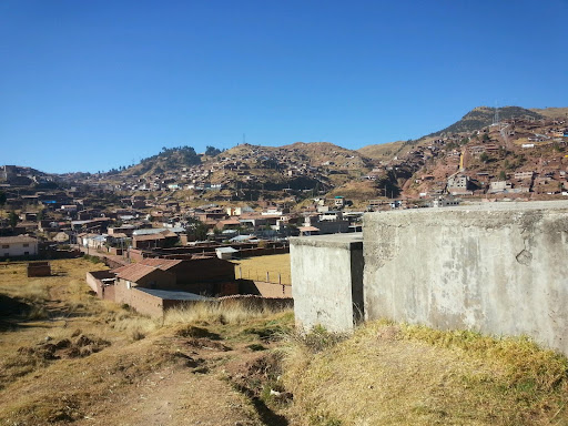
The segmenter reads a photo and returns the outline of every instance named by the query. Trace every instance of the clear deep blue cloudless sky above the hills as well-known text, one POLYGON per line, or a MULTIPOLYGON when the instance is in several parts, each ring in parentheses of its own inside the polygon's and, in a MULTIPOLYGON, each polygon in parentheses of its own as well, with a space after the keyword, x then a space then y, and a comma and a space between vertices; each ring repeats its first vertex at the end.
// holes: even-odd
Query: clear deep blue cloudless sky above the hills
POLYGON ((0 2, 0 164, 416 139, 568 106, 568 1, 0 2))

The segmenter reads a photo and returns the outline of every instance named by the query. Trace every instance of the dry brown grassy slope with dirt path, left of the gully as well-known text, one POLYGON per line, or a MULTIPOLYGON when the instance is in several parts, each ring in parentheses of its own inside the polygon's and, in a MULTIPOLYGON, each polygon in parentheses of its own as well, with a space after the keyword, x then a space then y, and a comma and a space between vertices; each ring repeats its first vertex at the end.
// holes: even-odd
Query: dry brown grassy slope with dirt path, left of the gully
POLYGON ((23 265, 0 268, 1 295, 47 313, 37 321, 13 312, 3 317, 0 424, 261 424, 250 402, 214 368, 254 354, 250 345, 266 345, 260 336, 275 324, 290 326, 290 312, 197 304, 153 320, 89 293, 85 272, 100 265, 55 261, 52 268, 58 275, 44 278, 28 278, 23 265), (182 328, 202 334, 184 336, 182 328), (148 399, 140 399, 142 393, 148 399), (164 408, 165 398, 175 408, 164 408))

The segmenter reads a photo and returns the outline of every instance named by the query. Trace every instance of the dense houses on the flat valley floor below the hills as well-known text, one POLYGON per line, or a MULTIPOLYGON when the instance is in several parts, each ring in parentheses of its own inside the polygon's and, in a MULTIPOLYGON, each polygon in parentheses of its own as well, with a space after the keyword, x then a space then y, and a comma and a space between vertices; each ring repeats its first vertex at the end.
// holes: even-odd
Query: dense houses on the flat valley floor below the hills
MULTIPOLYGON (((38 255, 42 247, 57 250, 75 244, 87 253, 125 255, 129 247, 169 248, 205 240, 232 244, 274 241, 298 234, 347 232, 352 225, 341 214, 343 197, 327 200, 328 205, 322 199, 317 207, 291 212, 290 204, 262 200, 252 209, 231 203, 190 207, 168 195, 156 199, 141 192, 119 197, 112 187, 102 185, 52 191, 8 187, 7 206, 21 213, 17 223, 2 217, 0 235, 36 237, 39 248, 26 254, 29 256, 38 255), (114 206, 106 207, 110 203, 114 206), (331 214, 329 207, 338 212, 331 214)), ((9 255, 13 256, 11 252, 9 255)))

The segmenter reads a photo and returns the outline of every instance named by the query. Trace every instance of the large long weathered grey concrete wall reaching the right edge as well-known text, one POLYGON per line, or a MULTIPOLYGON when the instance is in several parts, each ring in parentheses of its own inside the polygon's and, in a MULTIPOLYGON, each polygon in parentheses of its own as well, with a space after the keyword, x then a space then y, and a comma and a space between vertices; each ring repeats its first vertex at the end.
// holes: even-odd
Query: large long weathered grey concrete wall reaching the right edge
POLYGON ((526 334, 568 354, 567 202, 369 213, 364 223, 366 318, 526 334))

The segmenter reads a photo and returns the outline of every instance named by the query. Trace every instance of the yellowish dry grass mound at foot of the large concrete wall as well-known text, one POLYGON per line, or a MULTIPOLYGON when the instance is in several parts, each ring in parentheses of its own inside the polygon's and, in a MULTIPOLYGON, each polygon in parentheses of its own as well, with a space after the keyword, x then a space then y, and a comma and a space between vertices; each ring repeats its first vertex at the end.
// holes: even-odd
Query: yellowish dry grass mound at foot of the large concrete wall
POLYGON ((568 423, 567 361, 526 338, 373 323, 313 346, 295 338, 286 357, 301 425, 568 423))

